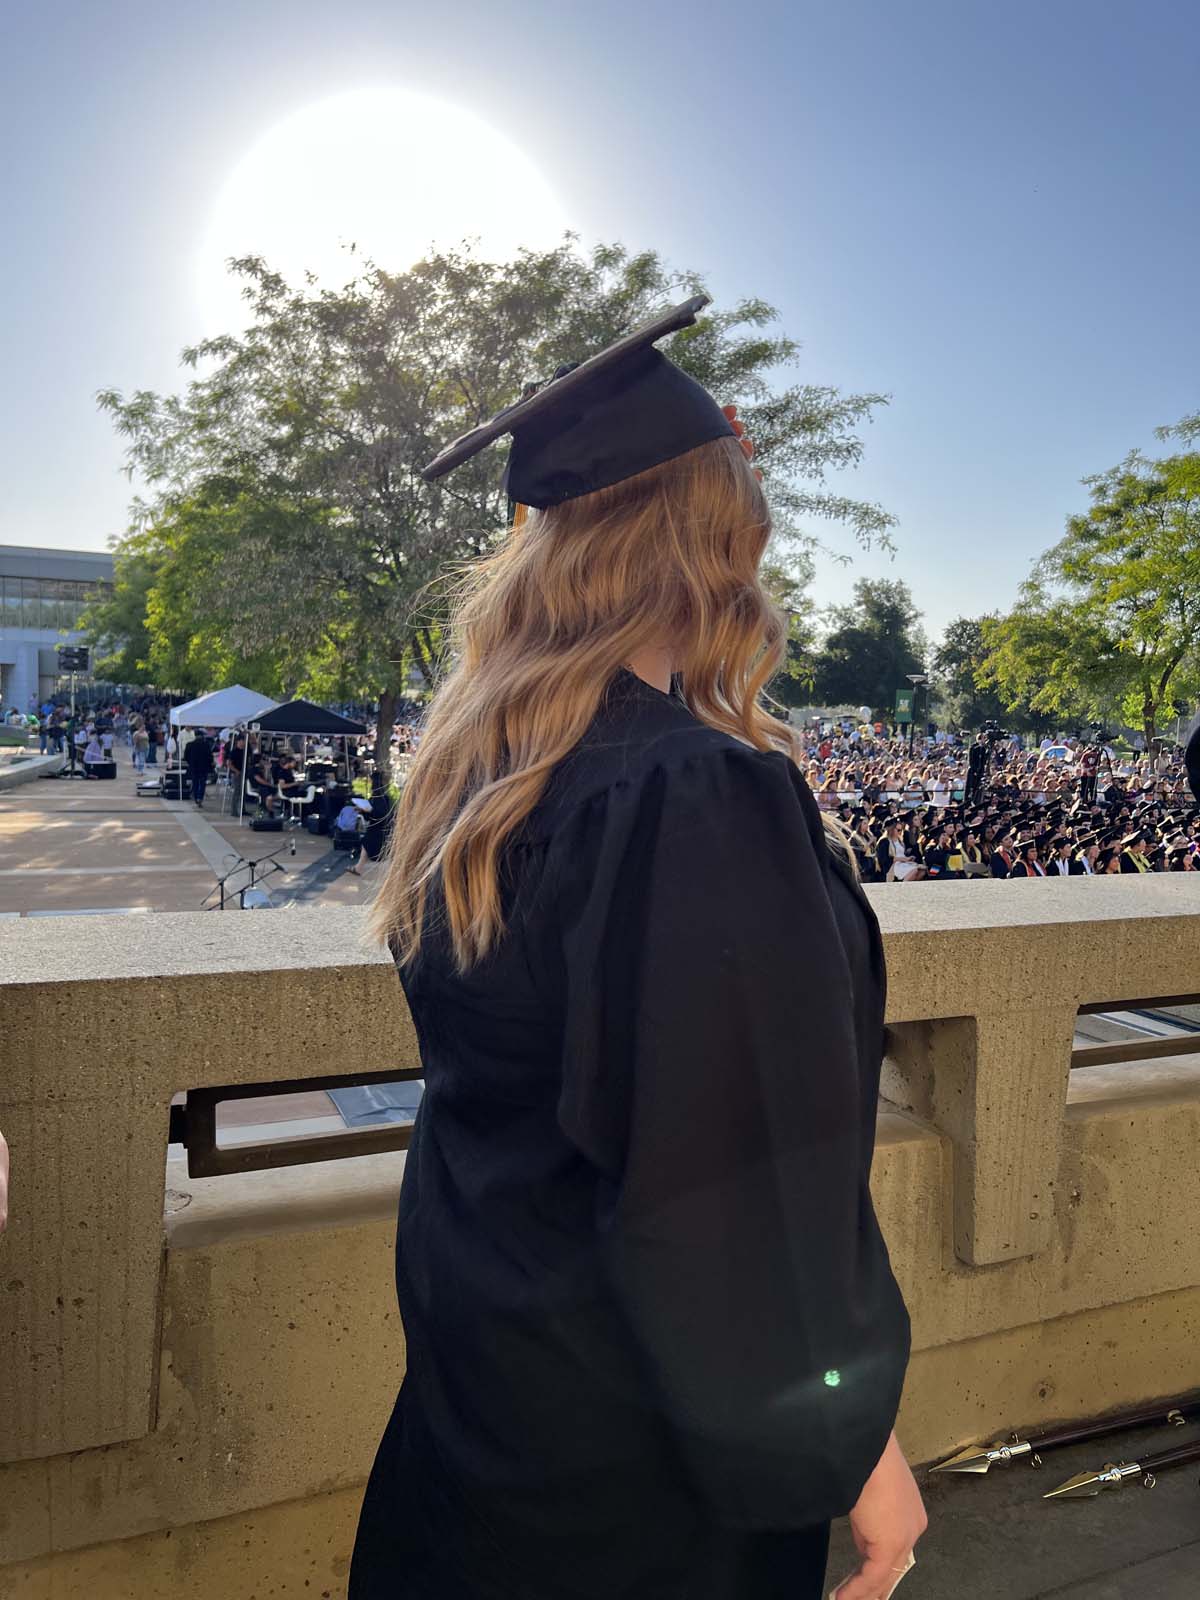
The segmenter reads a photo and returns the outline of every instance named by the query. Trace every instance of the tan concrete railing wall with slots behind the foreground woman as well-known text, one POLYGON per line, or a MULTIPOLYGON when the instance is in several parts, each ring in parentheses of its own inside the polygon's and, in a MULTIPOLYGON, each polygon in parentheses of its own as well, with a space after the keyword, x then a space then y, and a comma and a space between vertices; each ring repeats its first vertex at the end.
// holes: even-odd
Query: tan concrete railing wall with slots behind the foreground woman
MULTIPOLYGON (((1200 1384, 1200 1056, 1070 1070, 1080 1006, 1200 995, 1200 880, 870 894, 910 1456, 1200 1384)), ((338 1595, 403 1155, 189 1179, 166 1134, 178 1090, 416 1064, 360 914, 0 925, 0 1595, 338 1595)))

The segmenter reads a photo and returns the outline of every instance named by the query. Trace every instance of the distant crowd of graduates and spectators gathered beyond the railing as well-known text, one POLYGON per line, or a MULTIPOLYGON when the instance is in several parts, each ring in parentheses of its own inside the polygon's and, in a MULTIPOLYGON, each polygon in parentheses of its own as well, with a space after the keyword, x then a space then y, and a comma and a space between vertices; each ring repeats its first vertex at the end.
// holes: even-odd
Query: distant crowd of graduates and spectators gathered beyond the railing
MULTIPOLYGON (((392 771, 403 779, 419 742, 419 707, 398 710, 392 771)), ((155 696, 78 717, 46 701, 29 714, 13 709, 5 722, 37 731, 43 752, 74 752, 83 773, 102 771, 115 744, 130 750, 138 774, 182 762, 197 805, 216 770, 229 765, 240 779, 246 762, 245 736, 227 728, 197 739, 186 733, 176 749, 170 701, 155 696)), ((374 728, 352 744, 350 771, 365 776, 374 728)), ((1182 752, 1166 741, 1128 754, 1098 738, 1045 738, 1027 749, 986 730, 939 733, 914 749, 878 725, 826 723, 805 730, 802 744, 816 802, 848 834, 867 882, 1200 870, 1200 808, 1182 752)), ((312 773, 298 771, 291 752, 250 754, 245 789, 262 810, 274 814, 306 792, 312 773)))

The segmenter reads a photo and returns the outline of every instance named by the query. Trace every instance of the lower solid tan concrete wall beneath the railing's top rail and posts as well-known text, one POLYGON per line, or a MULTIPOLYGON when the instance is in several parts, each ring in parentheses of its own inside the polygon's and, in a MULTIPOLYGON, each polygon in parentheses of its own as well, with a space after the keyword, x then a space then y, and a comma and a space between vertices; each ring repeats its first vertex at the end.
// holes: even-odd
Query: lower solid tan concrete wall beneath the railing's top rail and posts
MULTIPOLYGON (((1106 1082, 1070 1106, 1078 1200, 1067 1198, 1042 1261, 984 1272, 947 1248, 947 1141, 912 1117, 880 1115, 875 1200, 914 1318, 899 1419, 914 1459, 1005 1421, 1200 1386, 1200 1082, 1189 1067, 1157 1064, 1154 1085, 1136 1067, 1088 1069, 1106 1082), (1160 1184, 1178 1186, 1170 1216, 1158 1214, 1160 1184)), ((168 1163, 154 1426, 102 1450, 0 1467, 0 1563, 360 1485, 403 1376, 403 1160, 202 1181, 168 1163)), ((0 1565, 0 1594, 6 1578, 0 1565)))

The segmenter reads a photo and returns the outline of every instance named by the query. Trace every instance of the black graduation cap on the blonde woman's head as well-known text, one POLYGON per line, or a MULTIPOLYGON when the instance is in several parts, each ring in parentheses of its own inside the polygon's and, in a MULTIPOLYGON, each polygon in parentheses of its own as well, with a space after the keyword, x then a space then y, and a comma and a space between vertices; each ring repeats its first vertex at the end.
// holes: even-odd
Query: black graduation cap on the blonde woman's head
POLYGON ((707 304, 694 294, 578 366, 560 366, 533 395, 456 438, 421 477, 434 482, 512 434, 509 499, 544 510, 733 435, 707 389, 654 349, 707 304))

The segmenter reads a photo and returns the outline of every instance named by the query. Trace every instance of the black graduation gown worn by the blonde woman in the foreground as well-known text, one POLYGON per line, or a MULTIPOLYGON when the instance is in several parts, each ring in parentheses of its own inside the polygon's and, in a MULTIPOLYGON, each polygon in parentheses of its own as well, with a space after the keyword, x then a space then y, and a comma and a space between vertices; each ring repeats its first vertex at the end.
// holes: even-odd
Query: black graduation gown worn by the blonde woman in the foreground
POLYGON ((867 1187, 883 960, 781 754, 614 678, 507 933, 402 981, 406 1378, 350 1600, 808 1600, 909 1318, 867 1187))

